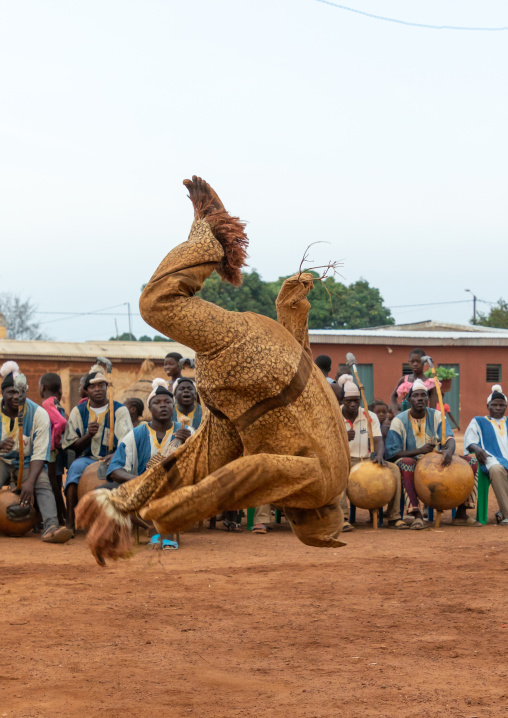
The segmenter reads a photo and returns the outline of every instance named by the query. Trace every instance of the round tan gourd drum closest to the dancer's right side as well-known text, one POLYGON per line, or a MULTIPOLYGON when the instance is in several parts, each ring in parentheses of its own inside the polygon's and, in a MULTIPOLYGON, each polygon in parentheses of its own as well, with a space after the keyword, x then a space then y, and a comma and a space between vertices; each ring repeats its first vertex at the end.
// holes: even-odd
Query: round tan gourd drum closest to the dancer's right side
POLYGON ((360 509, 380 509, 393 499, 395 477, 388 466, 361 461, 349 474, 347 495, 360 509))

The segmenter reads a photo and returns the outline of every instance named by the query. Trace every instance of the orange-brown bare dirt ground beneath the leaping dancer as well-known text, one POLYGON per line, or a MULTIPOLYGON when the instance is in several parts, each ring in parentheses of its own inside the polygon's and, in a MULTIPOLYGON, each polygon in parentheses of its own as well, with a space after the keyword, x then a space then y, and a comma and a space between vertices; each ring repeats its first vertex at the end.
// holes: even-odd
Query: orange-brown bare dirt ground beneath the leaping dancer
MULTIPOLYGON (((0 537, 0 718, 507 716, 508 529, 0 537)), ((366 512, 358 512, 360 521, 366 512)), ((205 524, 206 525, 206 524, 205 524)), ((222 524, 218 524, 222 526, 222 524)))

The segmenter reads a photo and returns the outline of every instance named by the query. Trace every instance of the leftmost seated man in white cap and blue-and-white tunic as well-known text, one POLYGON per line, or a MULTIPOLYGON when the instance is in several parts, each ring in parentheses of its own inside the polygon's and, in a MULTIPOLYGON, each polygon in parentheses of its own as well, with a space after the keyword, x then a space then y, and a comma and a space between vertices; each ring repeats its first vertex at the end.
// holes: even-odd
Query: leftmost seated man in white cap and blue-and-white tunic
MULTIPOLYGON (((19 391, 14 379, 19 373, 16 362, 6 362, 0 369, 2 405, 0 424, 0 487, 16 487, 20 466, 18 441, 19 391)), ((58 524, 55 496, 49 481, 46 462, 51 452, 51 423, 47 412, 30 399, 25 400, 23 418, 24 468, 19 503, 33 503, 34 494, 43 521, 45 543, 66 543, 72 536, 58 524)))

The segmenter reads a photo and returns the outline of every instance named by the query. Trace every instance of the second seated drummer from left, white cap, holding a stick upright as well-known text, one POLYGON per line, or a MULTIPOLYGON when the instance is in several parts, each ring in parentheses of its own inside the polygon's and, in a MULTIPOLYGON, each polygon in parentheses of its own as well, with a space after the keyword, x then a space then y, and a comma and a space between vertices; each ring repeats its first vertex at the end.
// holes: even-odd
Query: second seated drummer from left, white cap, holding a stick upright
MULTIPOLYGON (((95 367, 92 367, 95 369, 95 367)), ((75 451, 79 456, 70 466, 65 482, 67 501, 66 526, 71 531, 74 526, 74 509, 78 503, 78 483, 87 466, 95 461, 109 461, 109 432, 113 424, 113 452, 129 431, 132 422, 129 410, 118 401, 113 403, 113 412, 109 411, 107 399, 108 380, 102 370, 92 371, 86 376, 84 388, 87 393, 86 404, 78 404, 71 411, 65 427, 62 447, 75 451), (114 416, 111 417, 110 413, 114 416)))

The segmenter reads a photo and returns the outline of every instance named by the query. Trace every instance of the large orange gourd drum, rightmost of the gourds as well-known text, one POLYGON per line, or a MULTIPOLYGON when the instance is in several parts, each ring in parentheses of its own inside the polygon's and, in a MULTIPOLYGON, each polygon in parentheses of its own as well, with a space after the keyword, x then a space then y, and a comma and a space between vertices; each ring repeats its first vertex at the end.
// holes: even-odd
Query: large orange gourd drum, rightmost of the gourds
POLYGON ((426 454, 416 464, 415 489, 425 506, 447 511, 460 506, 474 486, 473 469, 467 461, 453 456, 449 466, 443 466, 443 454, 426 454))

